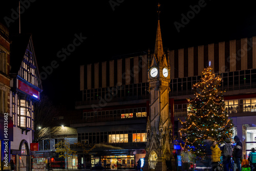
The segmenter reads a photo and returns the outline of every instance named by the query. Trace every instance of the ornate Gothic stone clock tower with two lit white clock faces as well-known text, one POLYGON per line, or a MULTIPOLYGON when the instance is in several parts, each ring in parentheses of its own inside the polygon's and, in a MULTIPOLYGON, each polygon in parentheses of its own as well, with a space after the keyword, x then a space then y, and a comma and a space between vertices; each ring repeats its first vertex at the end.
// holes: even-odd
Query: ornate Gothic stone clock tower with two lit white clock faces
POLYGON ((168 101, 170 91, 169 54, 165 54, 163 51, 159 18, 155 52, 148 55, 147 81, 150 92, 150 115, 147 118, 146 156, 143 170, 167 170, 167 167, 172 167, 172 170, 175 170, 172 147, 173 127, 170 121, 168 101))

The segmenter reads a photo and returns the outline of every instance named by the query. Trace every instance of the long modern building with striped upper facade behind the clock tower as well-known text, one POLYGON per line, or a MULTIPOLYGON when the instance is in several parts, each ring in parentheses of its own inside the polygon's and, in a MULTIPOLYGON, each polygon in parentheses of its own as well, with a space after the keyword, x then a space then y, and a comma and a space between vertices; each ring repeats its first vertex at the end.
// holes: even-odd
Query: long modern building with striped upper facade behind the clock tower
MULTIPOLYGON (((178 137, 178 118, 187 115, 187 99, 194 97, 193 84, 200 81, 209 61, 213 72, 222 76, 226 110, 235 125, 234 135, 243 141, 244 156, 256 146, 256 37, 185 47, 165 54, 169 56, 165 67, 170 91, 168 103, 161 99, 161 104, 155 106, 160 107, 157 110, 150 95, 154 86, 150 86, 150 71, 156 50, 80 66, 82 101, 76 103, 76 109, 82 110, 82 114, 71 121, 71 126, 77 127, 78 141, 97 144, 90 153, 80 154, 80 162, 87 165, 99 162, 111 168, 135 167, 146 156, 147 119, 156 112, 163 115, 167 108, 162 104, 168 105, 167 116, 173 134, 178 137)), ((162 71, 163 66, 160 68, 162 71)), ((155 123, 160 125, 158 121, 155 123)), ((159 152, 154 155, 148 156, 149 168, 154 168, 153 160, 159 157, 159 152)))

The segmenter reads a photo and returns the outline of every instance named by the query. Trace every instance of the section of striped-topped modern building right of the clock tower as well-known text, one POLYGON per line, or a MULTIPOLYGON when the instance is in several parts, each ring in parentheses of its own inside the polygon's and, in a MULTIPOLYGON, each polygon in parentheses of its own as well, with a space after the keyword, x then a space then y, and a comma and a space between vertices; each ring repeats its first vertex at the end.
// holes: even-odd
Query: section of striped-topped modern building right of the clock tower
POLYGON ((211 61, 211 68, 222 77, 226 110, 234 123, 233 136, 243 142, 246 158, 256 145, 256 37, 227 40, 208 45, 170 51, 170 100, 174 103, 175 131, 180 127, 178 118, 187 115, 187 98, 194 97, 191 90, 200 81, 203 68, 211 61))

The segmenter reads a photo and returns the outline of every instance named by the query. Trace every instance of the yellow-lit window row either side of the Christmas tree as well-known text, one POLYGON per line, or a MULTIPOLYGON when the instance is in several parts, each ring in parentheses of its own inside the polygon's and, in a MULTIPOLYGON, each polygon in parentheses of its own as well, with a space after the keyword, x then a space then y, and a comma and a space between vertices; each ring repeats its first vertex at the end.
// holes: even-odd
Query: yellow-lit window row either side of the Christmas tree
MULTIPOLYGON (((228 113, 256 112, 256 98, 225 100, 225 110, 228 113)), ((187 115, 188 104, 175 104, 175 116, 187 115)))

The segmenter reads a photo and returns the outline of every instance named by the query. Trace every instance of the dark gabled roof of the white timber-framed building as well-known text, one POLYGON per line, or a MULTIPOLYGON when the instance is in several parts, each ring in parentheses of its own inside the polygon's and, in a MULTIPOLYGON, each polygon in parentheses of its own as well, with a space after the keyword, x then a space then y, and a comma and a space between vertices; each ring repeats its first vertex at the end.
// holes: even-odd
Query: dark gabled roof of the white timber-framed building
POLYGON ((37 66, 36 56, 34 53, 33 41, 31 34, 18 34, 11 37, 11 45, 10 45, 10 75, 17 75, 22 65, 22 61, 24 59, 24 55, 26 50, 32 52, 35 67, 36 67, 36 77, 38 78, 38 88, 42 90, 40 74, 37 66))

